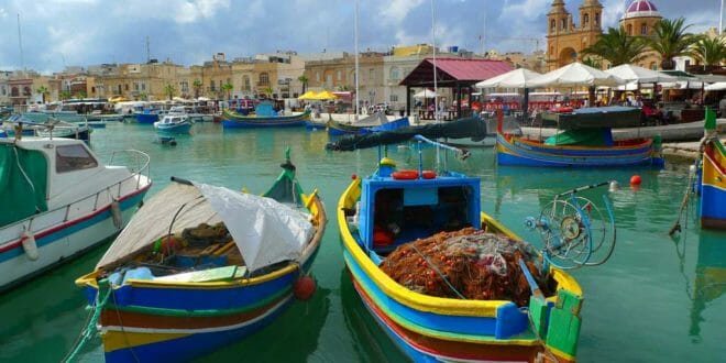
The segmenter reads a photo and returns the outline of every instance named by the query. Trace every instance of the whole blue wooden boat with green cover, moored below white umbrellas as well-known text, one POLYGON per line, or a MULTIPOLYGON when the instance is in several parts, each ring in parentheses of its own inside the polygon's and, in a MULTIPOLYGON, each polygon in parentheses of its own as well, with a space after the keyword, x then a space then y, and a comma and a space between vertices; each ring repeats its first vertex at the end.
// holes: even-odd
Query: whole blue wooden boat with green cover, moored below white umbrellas
MULTIPOLYGON (((626 117, 631 118, 628 110, 626 117)), ((617 118, 616 111, 588 113, 582 120, 591 122, 600 118, 617 118)), ((564 130, 544 142, 527 140, 502 131, 498 114, 496 153, 498 165, 522 165, 544 167, 603 167, 603 166, 653 166, 662 167, 660 138, 613 141, 612 129, 602 122, 592 122, 592 128, 582 127, 564 118, 566 124, 582 128, 564 130)), ((617 122, 614 122, 617 123, 617 122)))

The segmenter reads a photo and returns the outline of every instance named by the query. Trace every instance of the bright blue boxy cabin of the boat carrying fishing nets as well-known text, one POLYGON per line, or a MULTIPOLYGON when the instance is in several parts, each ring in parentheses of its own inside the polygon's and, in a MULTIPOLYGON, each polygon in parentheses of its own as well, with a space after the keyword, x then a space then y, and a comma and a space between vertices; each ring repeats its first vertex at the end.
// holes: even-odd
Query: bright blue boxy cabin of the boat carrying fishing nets
POLYGON ((480 178, 420 174, 382 165, 362 180, 359 233, 366 250, 386 254, 437 232, 481 226, 480 178))

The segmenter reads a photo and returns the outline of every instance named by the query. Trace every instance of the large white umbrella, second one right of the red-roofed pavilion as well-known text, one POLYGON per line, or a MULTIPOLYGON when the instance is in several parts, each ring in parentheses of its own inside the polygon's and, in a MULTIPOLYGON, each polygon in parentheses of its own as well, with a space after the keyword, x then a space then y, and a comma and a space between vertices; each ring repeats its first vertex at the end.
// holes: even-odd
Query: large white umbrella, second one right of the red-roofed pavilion
POLYGON ((530 87, 617 86, 624 82, 619 77, 575 62, 532 79, 530 87))

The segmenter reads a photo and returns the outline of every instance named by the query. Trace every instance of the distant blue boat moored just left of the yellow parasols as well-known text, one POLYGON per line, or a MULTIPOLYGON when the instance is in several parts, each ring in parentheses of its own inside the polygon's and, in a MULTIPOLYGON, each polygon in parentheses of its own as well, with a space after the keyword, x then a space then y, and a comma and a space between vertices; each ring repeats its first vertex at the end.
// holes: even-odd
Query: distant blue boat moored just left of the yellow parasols
POLYGON ((279 116, 272 102, 262 101, 255 106, 255 114, 242 116, 224 109, 222 111, 223 128, 292 128, 304 127, 310 119, 310 111, 290 116, 279 116))

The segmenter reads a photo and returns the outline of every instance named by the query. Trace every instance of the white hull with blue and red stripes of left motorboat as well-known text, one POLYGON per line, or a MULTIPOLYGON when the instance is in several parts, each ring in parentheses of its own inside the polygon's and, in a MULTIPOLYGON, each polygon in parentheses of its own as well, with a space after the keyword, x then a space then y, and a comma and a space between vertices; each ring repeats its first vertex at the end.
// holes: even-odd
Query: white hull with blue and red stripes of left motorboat
MULTIPOLYGON (((143 200, 151 184, 119 198, 123 224, 143 200)), ((100 195, 100 194, 99 194, 100 195)), ((106 193, 103 193, 106 195, 106 193)), ((103 196, 101 196, 103 197, 103 196)), ((94 202, 90 198, 89 202, 94 202)), ((35 215, 30 219, 0 229, 0 290, 12 287, 69 257, 116 235, 121 229, 113 222, 111 201, 102 207, 78 207, 85 212, 65 220, 66 208, 35 215), (38 258, 31 261, 24 252, 20 235, 32 226, 38 258)))

